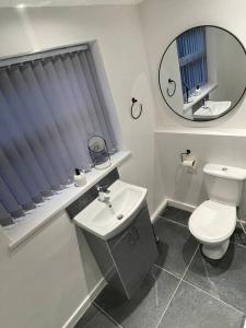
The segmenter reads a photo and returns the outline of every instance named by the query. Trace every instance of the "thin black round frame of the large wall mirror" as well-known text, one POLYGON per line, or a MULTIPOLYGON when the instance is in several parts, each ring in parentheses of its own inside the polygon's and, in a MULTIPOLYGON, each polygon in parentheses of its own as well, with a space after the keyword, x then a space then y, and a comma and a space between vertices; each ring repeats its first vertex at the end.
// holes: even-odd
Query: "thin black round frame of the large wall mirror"
MULTIPOLYGON (((173 113, 175 113, 175 115, 177 115, 177 116, 179 116, 179 117, 181 117, 183 119, 186 119, 186 120, 188 120, 188 121, 194 121, 194 122, 199 122, 199 124, 201 124, 201 122, 208 122, 208 121, 212 121, 212 120, 215 120, 215 119, 220 119, 221 117, 223 117, 223 116, 225 116, 226 114, 229 114, 230 112, 232 112, 232 110, 241 103, 241 101, 242 101, 243 97, 245 96, 245 93, 246 93, 246 85, 245 85, 245 87, 244 87, 244 92, 242 93, 242 96, 241 96, 239 99, 236 102, 236 104, 235 104, 232 108, 230 108, 229 110, 226 110, 225 113, 223 113, 221 116, 215 117, 215 118, 211 118, 211 119, 208 119, 208 120, 194 120, 194 119, 187 118, 187 117, 185 117, 185 116, 181 116, 180 114, 178 114, 177 112, 175 112, 175 110, 171 107, 171 105, 167 103, 167 101, 166 101, 166 98, 165 98, 165 96, 164 96, 164 94, 163 94, 162 86, 161 86, 161 68, 162 68, 162 62, 163 62, 163 59, 164 59, 164 57, 165 57, 167 50, 169 49, 171 45, 176 40, 176 38, 177 38, 178 36, 183 35, 184 33, 186 33, 187 31, 189 31, 189 30, 191 30, 191 28, 196 28, 196 27, 216 27, 216 28, 220 28, 220 30, 222 30, 222 31, 224 31, 224 32, 227 32, 229 34, 231 34, 231 35, 238 42, 238 44, 239 44, 241 47, 243 48, 244 54, 245 54, 245 60, 246 60, 246 48, 244 47, 243 43, 239 40, 239 38, 238 38, 237 36, 235 36, 232 32, 227 31, 227 30, 224 28, 224 27, 216 26, 216 25, 197 25, 197 26, 194 26, 194 27, 189 27, 188 30, 186 30, 186 31, 184 31, 183 33, 178 34, 178 35, 169 43, 169 45, 166 47, 165 51, 163 52, 162 58, 161 58, 161 62, 160 62, 160 65, 159 65, 159 89, 160 89, 160 91, 161 91, 161 94, 162 94, 163 99, 165 101, 165 103, 166 103, 166 105, 168 106, 168 108, 172 109, 173 113)), ((245 63, 245 65, 246 65, 246 63, 245 63)))

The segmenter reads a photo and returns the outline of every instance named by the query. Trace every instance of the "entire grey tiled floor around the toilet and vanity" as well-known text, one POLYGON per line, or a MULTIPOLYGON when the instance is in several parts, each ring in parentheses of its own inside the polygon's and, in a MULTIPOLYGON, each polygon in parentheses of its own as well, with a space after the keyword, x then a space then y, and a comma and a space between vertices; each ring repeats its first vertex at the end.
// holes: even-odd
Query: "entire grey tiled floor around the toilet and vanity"
POLYGON ((246 237, 236 231, 223 259, 206 259, 190 213, 167 208, 154 225, 160 257, 131 301, 107 285, 75 328, 243 328, 246 237))

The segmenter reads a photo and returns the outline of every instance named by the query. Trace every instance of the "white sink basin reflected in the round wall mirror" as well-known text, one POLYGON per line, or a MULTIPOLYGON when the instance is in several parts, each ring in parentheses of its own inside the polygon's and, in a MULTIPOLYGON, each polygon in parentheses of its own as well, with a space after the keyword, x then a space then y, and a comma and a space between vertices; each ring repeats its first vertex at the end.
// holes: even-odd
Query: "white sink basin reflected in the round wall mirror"
POLYGON ((224 114, 231 107, 232 102, 213 102, 207 101, 204 107, 200 107, 194 113, 194 118, 209 119, 216 118, 224 114))

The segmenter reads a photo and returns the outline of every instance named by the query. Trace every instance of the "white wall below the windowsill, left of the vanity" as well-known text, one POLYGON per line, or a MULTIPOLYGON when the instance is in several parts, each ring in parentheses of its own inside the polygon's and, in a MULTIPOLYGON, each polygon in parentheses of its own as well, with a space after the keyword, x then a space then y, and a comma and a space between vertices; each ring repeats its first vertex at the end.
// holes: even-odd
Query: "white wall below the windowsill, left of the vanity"
POLYGON ((0 326, 62 327, 102 274, 66 213, 16 251, 0 239, 0 326), (80 246, 79 246, 80 245, 80 246))

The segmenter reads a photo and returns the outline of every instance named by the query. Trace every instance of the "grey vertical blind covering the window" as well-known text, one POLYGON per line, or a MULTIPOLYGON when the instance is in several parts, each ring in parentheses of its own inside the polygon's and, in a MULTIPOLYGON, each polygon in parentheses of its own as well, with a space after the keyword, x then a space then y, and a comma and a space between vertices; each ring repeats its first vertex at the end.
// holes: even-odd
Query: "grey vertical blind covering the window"
POLYGON ((0 68, 0 224, 87 168, 94 133, 117 150, 90 49, 0 68))

